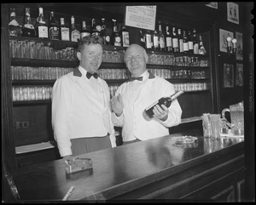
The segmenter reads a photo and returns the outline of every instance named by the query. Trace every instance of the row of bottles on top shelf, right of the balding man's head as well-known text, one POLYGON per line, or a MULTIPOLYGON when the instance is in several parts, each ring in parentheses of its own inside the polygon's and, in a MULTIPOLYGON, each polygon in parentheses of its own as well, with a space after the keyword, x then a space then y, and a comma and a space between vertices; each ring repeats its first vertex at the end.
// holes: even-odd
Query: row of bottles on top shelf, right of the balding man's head
POLYGON ((197 38, 195 28, 186 30, 169 26, 166 24, 166 30, 163 31, 159 21, 158 30, 140 31, 141 45, 147 50, 165 51, 170 53, 182 54, 207 54, 203 45, 202 36, 197 38))

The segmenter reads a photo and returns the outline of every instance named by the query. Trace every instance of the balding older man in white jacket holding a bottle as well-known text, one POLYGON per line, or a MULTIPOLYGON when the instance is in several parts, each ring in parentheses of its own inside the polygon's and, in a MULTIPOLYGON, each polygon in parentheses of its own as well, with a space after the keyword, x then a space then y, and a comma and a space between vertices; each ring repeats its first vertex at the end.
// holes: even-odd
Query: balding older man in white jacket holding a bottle
POLYGON ((151 120, 143 117, 148 105, 175 93, 172 83, 147 71, 147 63, 148 54, 143 47, 131 44, 126 49, 125 64, 131 79, 119 86, 111 100, 113 125, 122 127, 124 145, 165 136, 168 128, 181 122, 182 110, 177 100, 169 108, 155 105, 151 120))

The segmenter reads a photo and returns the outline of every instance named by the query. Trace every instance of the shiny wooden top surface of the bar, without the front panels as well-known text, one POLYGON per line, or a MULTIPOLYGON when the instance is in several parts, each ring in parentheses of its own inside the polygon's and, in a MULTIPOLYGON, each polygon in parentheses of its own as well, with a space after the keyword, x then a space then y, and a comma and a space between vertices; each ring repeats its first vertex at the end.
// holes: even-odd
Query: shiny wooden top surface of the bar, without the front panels
POLYGON ((244 144, 241 138, 211 140, 194 134, 194 143, 177 145, 177 136, 183 133, 80 155, 91 158, 93 168, 79 173, 66 174, 61 159, 17 169, 13 179, 23 202, 61 201, 72 186, 67 200, 108 200, 241 150, 244 144))

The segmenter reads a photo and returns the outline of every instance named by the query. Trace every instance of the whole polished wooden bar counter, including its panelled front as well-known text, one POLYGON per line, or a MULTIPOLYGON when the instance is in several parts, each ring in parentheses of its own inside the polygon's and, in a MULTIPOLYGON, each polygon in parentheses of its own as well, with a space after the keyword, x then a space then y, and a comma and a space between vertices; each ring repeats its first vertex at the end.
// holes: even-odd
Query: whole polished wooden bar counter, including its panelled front
POLYGON ((191 131, 197 140, 177 145, 173 137, 184 134, 80 155, 90 157, 93 168, 79 173, 66 174, 61 159, 17 169, 13 179, 22 202, 61 202, 72 186, 68 201, 241 200, 244 140, 211 140, 191 131))

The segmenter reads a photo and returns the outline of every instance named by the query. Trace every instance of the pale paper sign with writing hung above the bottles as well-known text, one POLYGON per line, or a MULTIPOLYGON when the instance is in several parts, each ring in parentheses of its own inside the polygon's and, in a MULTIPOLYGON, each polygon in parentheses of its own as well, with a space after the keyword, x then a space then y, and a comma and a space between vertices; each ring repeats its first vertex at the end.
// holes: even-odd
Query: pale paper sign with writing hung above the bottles
POLYGON ((125 26, 154 31, 156 6, 126 6, 125 26))

